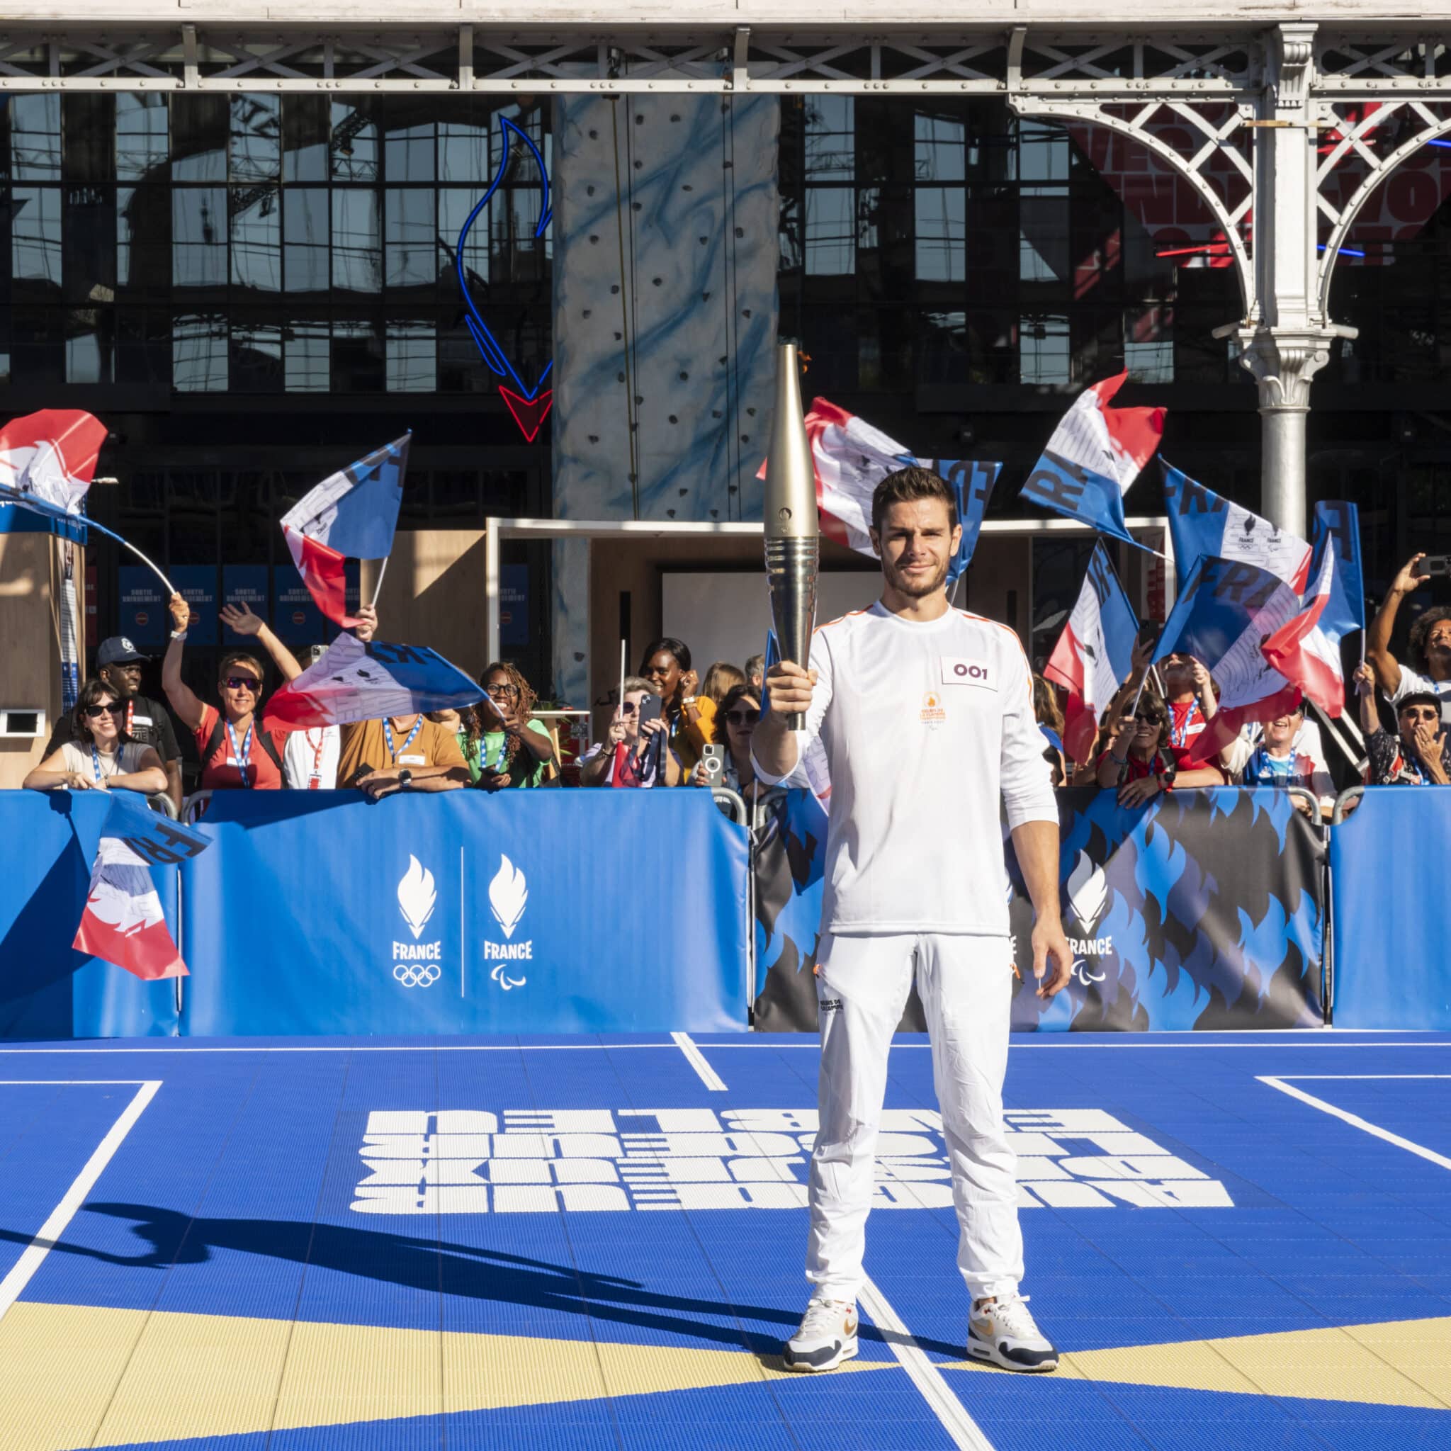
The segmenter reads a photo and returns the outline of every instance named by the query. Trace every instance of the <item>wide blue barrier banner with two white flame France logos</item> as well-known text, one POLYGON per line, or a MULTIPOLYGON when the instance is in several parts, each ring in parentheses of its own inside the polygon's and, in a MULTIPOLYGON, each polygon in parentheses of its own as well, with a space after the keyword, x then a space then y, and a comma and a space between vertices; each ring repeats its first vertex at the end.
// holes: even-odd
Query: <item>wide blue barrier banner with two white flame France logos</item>
POLYGON ((183 1033, 731 1032, 746 833, 704 791, 229 791, 183 1033))

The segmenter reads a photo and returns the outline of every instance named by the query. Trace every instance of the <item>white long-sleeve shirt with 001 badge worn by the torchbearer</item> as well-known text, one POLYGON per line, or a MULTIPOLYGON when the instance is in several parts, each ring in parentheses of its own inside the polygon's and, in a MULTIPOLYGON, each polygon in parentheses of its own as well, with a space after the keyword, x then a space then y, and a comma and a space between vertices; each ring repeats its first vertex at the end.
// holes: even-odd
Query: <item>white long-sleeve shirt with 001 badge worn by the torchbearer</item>
MULTIPOLYGON (((813 739, 831 772, 827 932, 1008 933, 1008 827, 1058 821, 1017 636, 959 609, 927 622, 881 604, 821 625, 813 739)), ((760 769, 763 781, 779 781, 760 769)))

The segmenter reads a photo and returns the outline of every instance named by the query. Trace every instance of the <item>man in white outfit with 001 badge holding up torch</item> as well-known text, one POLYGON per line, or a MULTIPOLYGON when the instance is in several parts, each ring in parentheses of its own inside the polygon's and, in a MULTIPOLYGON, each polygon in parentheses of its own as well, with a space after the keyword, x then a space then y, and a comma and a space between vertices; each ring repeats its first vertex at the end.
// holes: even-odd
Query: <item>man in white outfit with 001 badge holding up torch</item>
POLYGON ((807 650, 789 615, 800 621, 807 593, 814 609, 814 482, 794 348, 782 354, 766 557, 785 659, 768 672, 752 756, 757 776, 778 782, 820 739, 831 775, 807 1249, 815 1288, 785 1364, 826 1371, 856 1355, 887 1059, 916 979, 972 1306, 968 1354, 1007 1370, 1053 1370, 1058 1352, 1019 1293, 1016 1155, 1003 1125, 1013 953, 1000 801, 1036 914, 1039 997, 1062 991, 1074 961, 1059 920, 1058 810, 1027 659, 1014 631, 949 608, 948 564, 962 533, 953 493, 937 474, 907 467, 872 499, 881 599, 821 625, 810 667, 800 665, 807 650), (804 515, 810 530, 800 527, 804 515))

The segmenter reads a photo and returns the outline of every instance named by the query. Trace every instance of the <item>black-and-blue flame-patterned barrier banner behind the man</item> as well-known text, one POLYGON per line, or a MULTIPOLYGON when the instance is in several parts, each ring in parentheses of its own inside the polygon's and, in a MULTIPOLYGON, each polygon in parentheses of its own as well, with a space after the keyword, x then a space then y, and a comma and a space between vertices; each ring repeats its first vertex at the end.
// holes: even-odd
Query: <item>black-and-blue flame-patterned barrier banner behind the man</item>
MULTIPOLYGON (((805 792, 765 827, 756 859, 756 1027, 817 1026, 826 849, 805 792)), ((1032 904, 1006 844, 1017 981, 1013 1027, 1177 1030, 1319 1027, 1325 850, 1284 791, 1175 791, 1123 810, 1113 791, 1058 792, 1071 984, 1036 995, 1032 904)), ((1344 959, 1342 959, 1344 961, 1344 959)), ((916 998, 901 1032, 926 1027, 916 998)))

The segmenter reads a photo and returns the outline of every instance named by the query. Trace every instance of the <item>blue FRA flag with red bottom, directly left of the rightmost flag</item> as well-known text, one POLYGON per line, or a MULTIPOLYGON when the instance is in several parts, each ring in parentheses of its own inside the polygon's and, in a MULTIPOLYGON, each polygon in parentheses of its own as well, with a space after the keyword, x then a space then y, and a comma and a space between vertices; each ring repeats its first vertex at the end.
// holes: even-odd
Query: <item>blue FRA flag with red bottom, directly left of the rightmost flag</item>
POLYGON ((1219 710, 1194 737, 1190 760, 1209 760, 1248 721, 1294 710, 1300 691, 1264 657, 1262 646, 1300 612, 1300 596, 1270 570, 1201 554, 1164 633, 1158 656, 1191 654, 1220 689, 1219 710))

